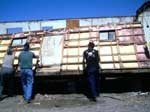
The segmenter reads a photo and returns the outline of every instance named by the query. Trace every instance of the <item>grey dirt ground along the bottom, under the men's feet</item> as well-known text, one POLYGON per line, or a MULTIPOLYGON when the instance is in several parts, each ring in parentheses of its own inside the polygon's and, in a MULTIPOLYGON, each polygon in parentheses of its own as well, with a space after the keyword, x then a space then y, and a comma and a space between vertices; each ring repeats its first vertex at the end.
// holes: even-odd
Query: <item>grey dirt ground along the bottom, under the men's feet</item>
POLYGON ((149 112, 148 92, 103 93, 97 102, 83 94, 36 94, 30 104, 21 95, 0 102, 0 112, 149 112))

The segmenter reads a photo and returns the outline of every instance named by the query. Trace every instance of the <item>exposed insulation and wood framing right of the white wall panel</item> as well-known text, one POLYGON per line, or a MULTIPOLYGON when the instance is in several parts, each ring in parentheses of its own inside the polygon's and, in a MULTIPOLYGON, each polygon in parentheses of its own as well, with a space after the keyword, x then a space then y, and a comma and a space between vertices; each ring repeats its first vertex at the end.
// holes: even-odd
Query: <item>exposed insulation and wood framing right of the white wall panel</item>
POLYGON ((145 39, 142 26, 140 24, 110 26, 91 28, 96 34, 92 37, 92 30, 83 33, 81 32, 83 31, 82 28, 80 28, 79 32, 70 32, 64 42, 66 44, 64 46, 65 52, 63 52, 62 73, 81 73, 82 54, 87 49, 90 39, 95 41, 96 49, 99 50, 102 70, 128 70, 150 67, 147 65, 148 59, 144 53, 145 39), (100 41, 99 31, 109 30, 110 26, 111 30, 113 29, 116 32, 116 40, 100 41))

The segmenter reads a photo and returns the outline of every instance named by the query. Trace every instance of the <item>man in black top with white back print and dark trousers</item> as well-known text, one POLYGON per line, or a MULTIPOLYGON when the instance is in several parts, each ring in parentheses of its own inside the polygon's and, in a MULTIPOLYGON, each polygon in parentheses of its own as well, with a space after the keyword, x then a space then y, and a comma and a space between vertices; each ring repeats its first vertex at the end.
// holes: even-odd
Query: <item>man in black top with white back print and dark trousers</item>
POLYGON ((83 53, 83 70, 86 73, 88 88, 91 92, 91 100, 96 101, 99 96, 99 53, 94 49, 94 43, 89 42, 88 49, 83 53))

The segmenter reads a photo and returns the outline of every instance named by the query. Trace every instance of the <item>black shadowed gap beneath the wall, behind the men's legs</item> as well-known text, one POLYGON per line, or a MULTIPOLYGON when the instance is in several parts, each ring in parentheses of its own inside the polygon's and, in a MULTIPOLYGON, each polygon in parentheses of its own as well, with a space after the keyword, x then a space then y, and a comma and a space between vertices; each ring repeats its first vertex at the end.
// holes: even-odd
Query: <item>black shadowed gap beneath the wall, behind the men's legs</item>
MULTIPOLYGON (((109 77, 105 80, 101 80, 101 93, 122 93, 133 91, 150 91, 150 77, 109 77)), ((4 92, 7 91, 5 90, 4 92)), ((87 92, 86 80, 83 76, 35 77, 34 94, 86 94, 87 92)), ((22 94, 20 77, 15 78, 15 94, 22 94)))

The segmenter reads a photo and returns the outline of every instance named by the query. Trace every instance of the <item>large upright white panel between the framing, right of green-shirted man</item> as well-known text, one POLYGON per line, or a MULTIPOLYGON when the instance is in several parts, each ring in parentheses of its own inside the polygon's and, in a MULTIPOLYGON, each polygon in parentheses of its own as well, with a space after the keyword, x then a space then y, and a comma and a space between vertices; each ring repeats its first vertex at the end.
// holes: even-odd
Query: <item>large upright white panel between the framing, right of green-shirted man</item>
POLYGON ((61 63, 62 40, 62 35, 44 37, 41 50, 42 65, 55 65, 61 63))

